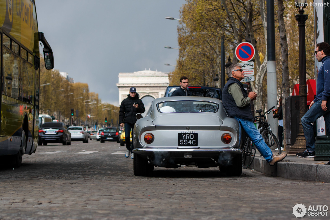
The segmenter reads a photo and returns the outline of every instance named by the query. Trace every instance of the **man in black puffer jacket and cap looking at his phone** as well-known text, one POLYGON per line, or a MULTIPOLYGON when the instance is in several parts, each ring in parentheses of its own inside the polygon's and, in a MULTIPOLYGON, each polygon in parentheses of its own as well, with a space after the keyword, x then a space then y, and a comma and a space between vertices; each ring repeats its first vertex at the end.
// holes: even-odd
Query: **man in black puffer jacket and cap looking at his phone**
MULTIPOLYGON (((131 158, 133 159, 132 150, 134 149, 134 145, 130 141, 131 130, 133 133, 134 125, 137 121, 136 114, 144 113, 146 111, 144 104, 141 99, 139 99, 140 95, 136 93, 135 87, 131 87, 129 89, 129 94, 127 98, 122 100, 119 107, 119 124, 121 127, 125 128, 125 142, 126 142, 126 154, 125 157, 129 157, 131 153, 131 158)), ((133 136, 133 134, 132 134, 133 136)))

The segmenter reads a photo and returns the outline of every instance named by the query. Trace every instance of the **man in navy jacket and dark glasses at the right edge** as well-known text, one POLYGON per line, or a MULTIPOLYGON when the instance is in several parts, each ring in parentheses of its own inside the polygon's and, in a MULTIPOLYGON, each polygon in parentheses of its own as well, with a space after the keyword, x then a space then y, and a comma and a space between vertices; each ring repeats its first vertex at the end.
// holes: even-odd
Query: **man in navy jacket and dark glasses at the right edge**
MULTIPOLYGON (((325 42, 316 45, 315 57, 322 62, 318 70, 316 82, 316 97, 311 102, 309 110, 301 118, 301 124, 306 138, 306 150, 296 154, 302 158, 315 157, 315 141, 312 123, 323 116, 325 128, 330 134, 330 45, 325 42)), ((330 165, 330 162, 328 163, 330 165)))

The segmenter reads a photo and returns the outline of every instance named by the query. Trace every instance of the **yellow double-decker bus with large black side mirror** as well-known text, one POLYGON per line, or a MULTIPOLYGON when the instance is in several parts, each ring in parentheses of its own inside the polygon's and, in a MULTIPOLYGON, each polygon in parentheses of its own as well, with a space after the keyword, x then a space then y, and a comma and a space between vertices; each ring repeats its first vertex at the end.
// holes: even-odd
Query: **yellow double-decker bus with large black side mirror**
POLYGON ((36 151, 39 126, 39 42, 46 69, 52 50, 38 21, 34 0, 0 0, 1 123, 0 163, 19 167, 36 151))

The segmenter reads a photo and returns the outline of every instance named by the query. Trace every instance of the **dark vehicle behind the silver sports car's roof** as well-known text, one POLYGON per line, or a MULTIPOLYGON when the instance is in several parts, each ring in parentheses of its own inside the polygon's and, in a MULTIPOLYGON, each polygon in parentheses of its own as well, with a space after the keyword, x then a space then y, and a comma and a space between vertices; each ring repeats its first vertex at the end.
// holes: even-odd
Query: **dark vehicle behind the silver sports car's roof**
MULTIPOLYGON (((169 97, 171 94, 179 89, 180 86, 166 87, 164 97, 169 97)), ((207 87, 207 86, 188 86, 188 90, 192 92, 192 96, 211 97, 221 100, 222 91, 220 88, 207 87)))

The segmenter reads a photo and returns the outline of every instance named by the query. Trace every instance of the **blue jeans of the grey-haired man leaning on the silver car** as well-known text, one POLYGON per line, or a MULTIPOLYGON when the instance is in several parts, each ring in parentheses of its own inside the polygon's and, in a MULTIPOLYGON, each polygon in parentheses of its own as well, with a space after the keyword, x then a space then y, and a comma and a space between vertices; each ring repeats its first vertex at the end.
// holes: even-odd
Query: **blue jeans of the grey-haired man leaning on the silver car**
MULTIPOLYGON (((271 162, 273 153, 272 153, 271 149, 265 143, 260 132, 257 130, 257 128, 255 128, 253 121, 244 119, 241 117, 237 117, 237 116, 234 116, 234 118, 241 123, 241 126, 247 133, 248 137, 251 139, 252 143, 258 149, 260 154, 265 158, 265 160, 267 162, 271 162)), ((240 131, 240 133, 241 133, 241 131, 240 131)))

